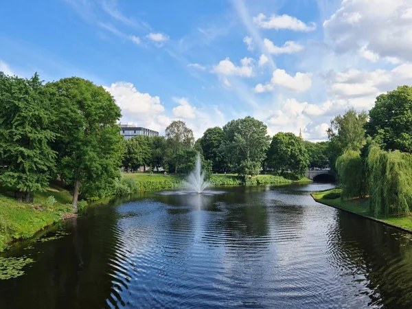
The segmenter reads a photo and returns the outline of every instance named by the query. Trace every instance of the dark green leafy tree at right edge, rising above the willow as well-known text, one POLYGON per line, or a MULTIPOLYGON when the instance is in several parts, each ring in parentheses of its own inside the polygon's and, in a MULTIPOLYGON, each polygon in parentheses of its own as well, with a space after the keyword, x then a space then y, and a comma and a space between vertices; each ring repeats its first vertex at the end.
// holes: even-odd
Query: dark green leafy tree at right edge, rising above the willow
POLYGON ((369 111, 367 134, 384 150, 412 152, 412 87, 402 86, 376 98, 369 111))

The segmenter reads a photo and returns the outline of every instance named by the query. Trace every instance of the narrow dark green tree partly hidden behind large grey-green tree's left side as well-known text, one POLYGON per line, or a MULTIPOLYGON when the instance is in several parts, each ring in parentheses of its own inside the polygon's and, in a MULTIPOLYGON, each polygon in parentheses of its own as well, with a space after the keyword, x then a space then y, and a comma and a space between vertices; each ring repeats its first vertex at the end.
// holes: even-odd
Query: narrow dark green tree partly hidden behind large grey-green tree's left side
POLYGON ((225 133, 223 132, 223 129, 218 126, 205 130, 201 139, 203 156, 205 157, 205 160, 211 161, 212 169, 214 171, 220 171, 225 168, 225 159, 219 151, 220 145, 222 145, 224 139, 225 133))

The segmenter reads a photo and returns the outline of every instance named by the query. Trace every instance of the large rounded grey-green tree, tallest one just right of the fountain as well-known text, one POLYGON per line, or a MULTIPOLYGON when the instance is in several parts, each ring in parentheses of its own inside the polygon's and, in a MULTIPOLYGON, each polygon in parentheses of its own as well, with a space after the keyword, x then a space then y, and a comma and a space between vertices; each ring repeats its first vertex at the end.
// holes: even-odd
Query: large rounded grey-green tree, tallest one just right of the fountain
POLYGON ((259 174, 270 140, 266 125, 248 116, 228 122, 223 132, 225 140, 220 151, 236 172, 243 176, 259 174))

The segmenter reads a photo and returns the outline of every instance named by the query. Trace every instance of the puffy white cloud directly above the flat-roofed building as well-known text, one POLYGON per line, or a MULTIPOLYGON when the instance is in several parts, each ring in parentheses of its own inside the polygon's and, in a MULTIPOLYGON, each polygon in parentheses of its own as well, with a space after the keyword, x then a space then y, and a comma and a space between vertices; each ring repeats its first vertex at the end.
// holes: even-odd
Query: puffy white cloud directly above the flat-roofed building
POLYGON ((158 96, 140 93, 130 82, 114 82, 104 86, 122 108, 122 122, 145 126, 152 130, 164 130, 170 119, 164 115, 165 108, 158 96))

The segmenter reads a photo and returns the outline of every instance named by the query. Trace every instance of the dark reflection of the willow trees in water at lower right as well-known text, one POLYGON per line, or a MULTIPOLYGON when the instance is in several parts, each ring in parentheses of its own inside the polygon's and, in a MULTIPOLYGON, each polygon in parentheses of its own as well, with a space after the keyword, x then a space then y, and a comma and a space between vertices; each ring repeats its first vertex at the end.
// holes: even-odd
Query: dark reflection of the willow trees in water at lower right
POLYGON ((365 277, 373 290, 371 304, 411 308, 412 241, 408 233, 378 222, 337 213, 336 229, 330 231, 330 264, 353 276, 365 277))

